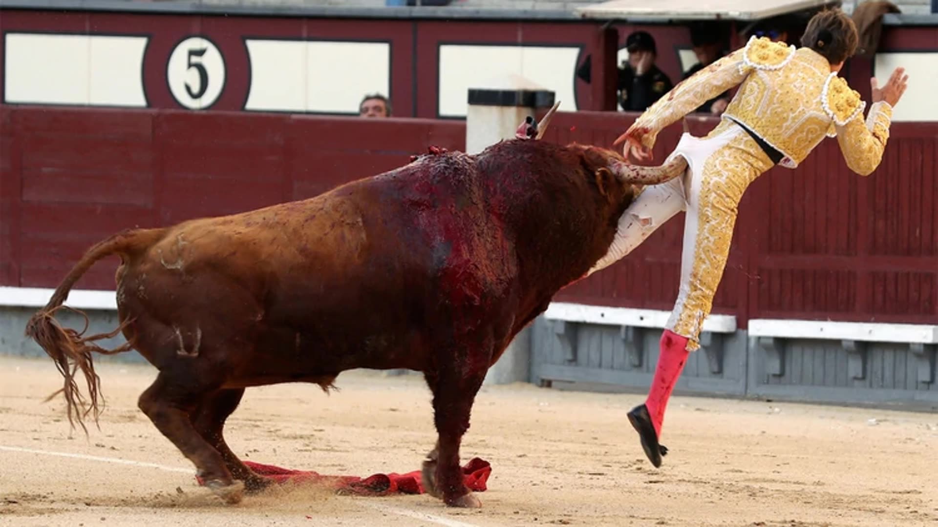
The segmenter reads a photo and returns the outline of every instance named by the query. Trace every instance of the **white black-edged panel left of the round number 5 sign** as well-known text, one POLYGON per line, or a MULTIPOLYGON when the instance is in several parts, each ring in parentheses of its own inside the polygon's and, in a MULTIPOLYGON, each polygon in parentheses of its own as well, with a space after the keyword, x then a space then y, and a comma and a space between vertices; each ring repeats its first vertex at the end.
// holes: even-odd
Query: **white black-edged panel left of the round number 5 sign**
POLYGON ((4 101, 147 106, 145 37, 7 33, 4 101))

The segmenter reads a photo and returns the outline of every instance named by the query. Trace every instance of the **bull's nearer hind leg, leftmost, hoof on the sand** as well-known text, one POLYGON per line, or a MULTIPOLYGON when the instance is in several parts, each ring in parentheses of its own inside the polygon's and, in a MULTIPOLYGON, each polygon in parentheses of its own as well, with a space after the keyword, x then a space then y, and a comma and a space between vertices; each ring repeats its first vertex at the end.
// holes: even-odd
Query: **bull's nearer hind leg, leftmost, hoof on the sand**
MULTIPOLYGON (((185 378, 193 382, 194 376, 185 378)), ((244 485, 234 482, 221 454, 208 444, 189 420, 205 396, 214 391, 197 384, 174 382, 165 371, 140 396, 138 406, 184 456, 195 464, 205 486, 229 504, 241 501, 244 485)))

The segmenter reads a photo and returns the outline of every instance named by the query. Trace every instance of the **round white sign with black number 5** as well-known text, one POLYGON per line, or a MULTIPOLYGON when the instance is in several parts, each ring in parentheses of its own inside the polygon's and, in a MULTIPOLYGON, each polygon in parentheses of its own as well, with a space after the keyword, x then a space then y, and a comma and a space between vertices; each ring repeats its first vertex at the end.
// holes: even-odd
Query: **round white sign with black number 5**
POLYGON ((182 106, 209 108, 225 86, 225 61, 219 48, 202 37, 179 42, 166 64, 166 83, 182 106))

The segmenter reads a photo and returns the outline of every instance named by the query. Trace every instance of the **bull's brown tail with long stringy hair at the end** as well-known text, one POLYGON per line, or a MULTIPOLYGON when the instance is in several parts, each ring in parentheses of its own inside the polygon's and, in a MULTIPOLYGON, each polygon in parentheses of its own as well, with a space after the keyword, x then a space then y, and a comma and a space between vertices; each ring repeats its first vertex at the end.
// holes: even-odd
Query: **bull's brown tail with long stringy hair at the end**
POLYGON ((68 292, 71 291, 75 282, 82 278, 82 275, 87 272, 92 265, 98 262, 98 260, 111 255, 119 255, 122 261, 127 262, 130 256, 139 254, 145 248, 152 246, 162 237, 163 233, 163 229, 124 231, 114 234, 106 240, 99 242, 94 247, 89 248, 84 253, 82 259, 79 260, 78 264, 75 264, 71 271, 68 272, 68 276, 55 288, 55 292, 52 298, 49 299, 49 303, 46 304, 45 308, 39 309, 26 324, 25 335, 35 340, 46 354, 52 357, 56 368, 62 373, 65 384, 62 389, 53 393, 46 400, 53 399, 53 397, 59 393, 65 395, 68 422, 71 424, 72 429, 75 428, 75 421, 77 420, 85 434, 87 434, 88 430, 84 426, 83 417, 89 413, 93 413, 95 423, 97 424, 100 406, 104 401, 98 389, 100 379, 95 372, 95 365, 92 362, 92 352, 98 354, 119 354, 127 352, 132 348, 132 344, 127 342, 113 350, 106 350, 95 344, 95 341, 114 337, 131 321, 124 321, 111 333, 83 337, 84 332, 88 328, 87 315, 78 309, 72 309, 83 315, 85 319, 84 329, 81 332, 77 332, 74 329, 62 327, 62 325, 55 320, 55 312, 62 308, 71 309, 62 305, 66 298, 68 298, 68 292), (85 399, 78 389, 78 384, 75 383, 75 374, 79 369, 82 370, 84 381, 88 387, 88 403, 85 402, 85 399))

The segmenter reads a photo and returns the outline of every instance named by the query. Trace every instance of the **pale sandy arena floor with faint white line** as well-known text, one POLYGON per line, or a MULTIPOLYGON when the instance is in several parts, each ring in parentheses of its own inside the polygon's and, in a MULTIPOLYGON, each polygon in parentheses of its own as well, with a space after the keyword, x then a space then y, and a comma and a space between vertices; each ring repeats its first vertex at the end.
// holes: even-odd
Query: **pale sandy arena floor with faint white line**
MULTIPOLYGON (((480 510, 310 487, 228 506, 137 410, 156 370, 98 369, 109 406, 85 439, 69 433, 61 398, 42 402, 61 386, 51 361, 0 357, 0 524, 938 526, 938 414, 676 397, 662 438, 672 452, 656 470, 625 416, 641 396, 527 384, 477 398, 462 460, 492 463, 480 510)), ((249 389, 228 443, 322 474, 418 468, 435 441, 422 378, 358 371, 337 384, 329 396, 249 389)))

